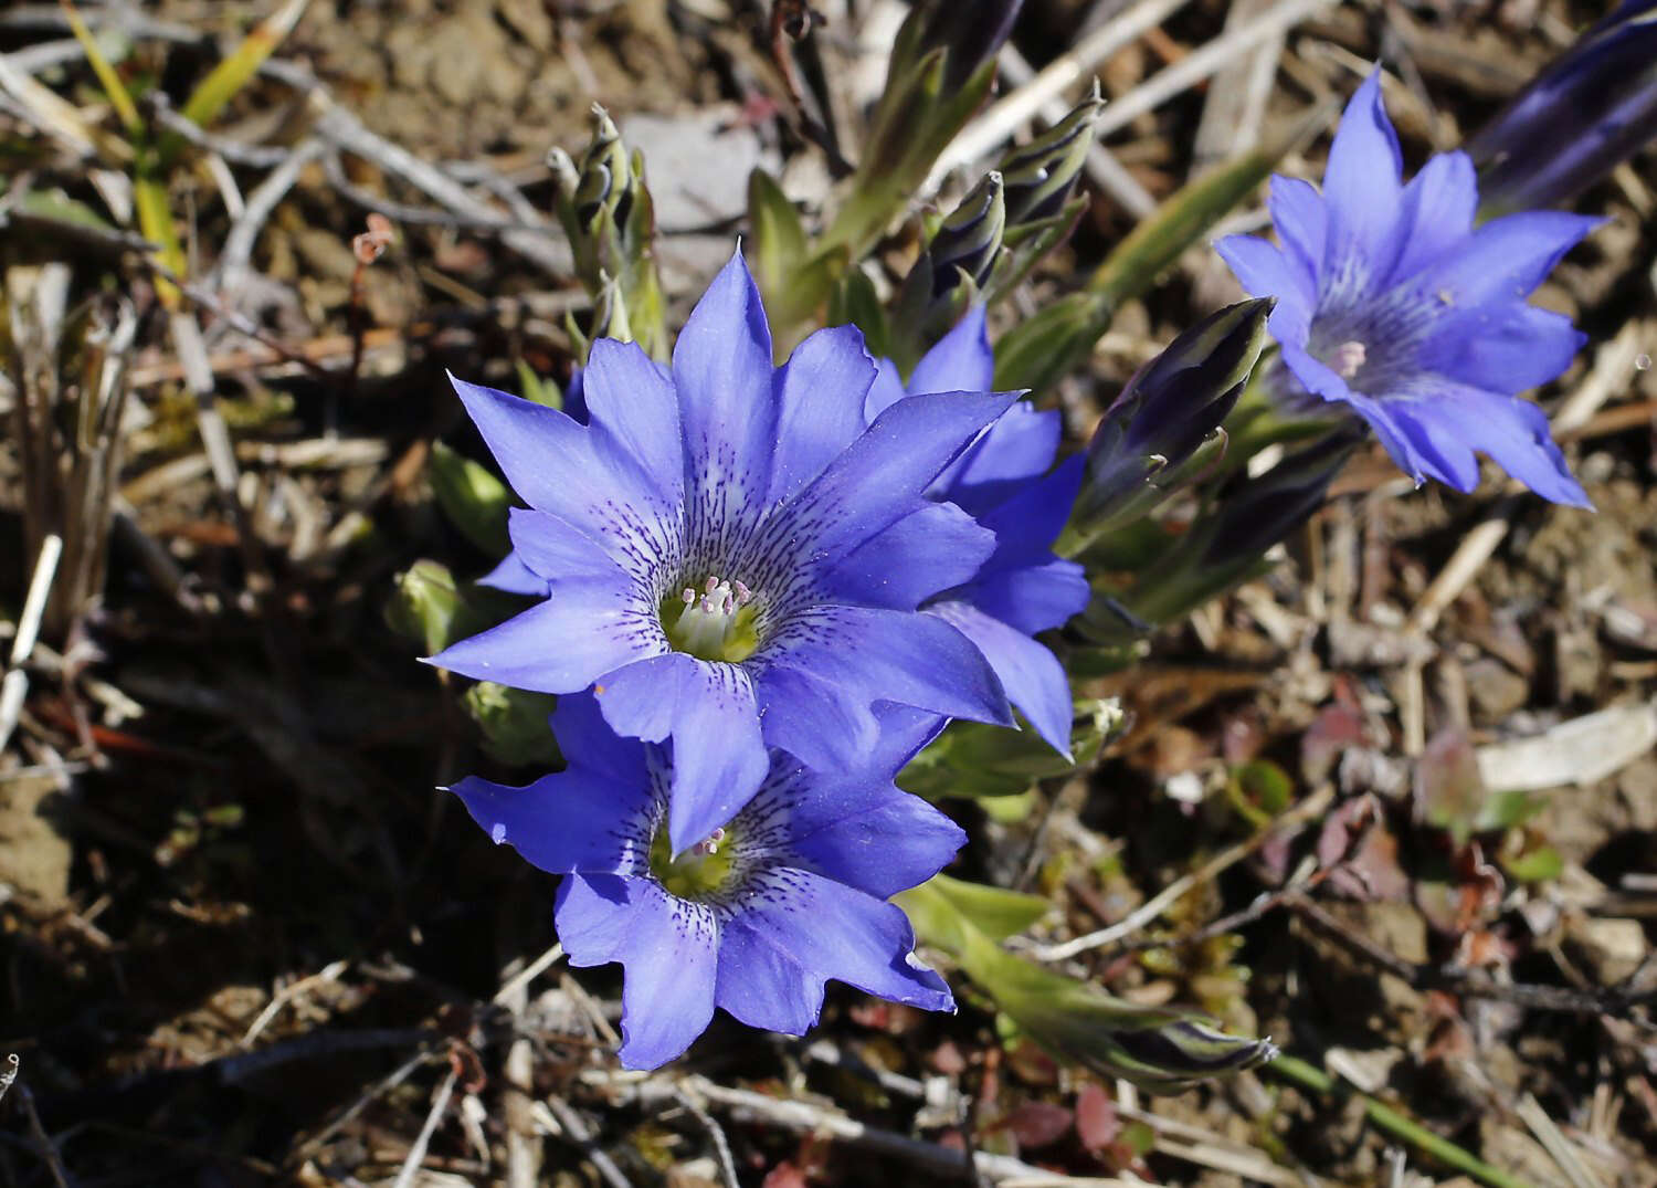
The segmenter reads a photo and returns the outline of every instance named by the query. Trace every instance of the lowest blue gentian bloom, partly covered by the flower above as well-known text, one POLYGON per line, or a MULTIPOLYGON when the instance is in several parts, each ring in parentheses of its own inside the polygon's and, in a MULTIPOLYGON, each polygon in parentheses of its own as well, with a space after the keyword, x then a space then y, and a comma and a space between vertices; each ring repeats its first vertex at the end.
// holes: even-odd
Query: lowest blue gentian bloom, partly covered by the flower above
MULTIPOLYGON (((830 978, 953 1011, 913 958, 915 933, 886 900, 931 878, 966 835, 891 774, 938 719, 883 709, 857 769, 824 774, 782 751, 759 792, 674 857, 671 747, 618 737, 590 694, 562 698, 553 729, 570 765, 514 789, 469 777, 454 792, 497 843, 567 875, 558 939, 575 966, 620 961, 621 1062, 679 1055, 722 1007, 790 1036, 817 1022, 830 978)), ((676 744, 674 744, 676 746, 676 744)))

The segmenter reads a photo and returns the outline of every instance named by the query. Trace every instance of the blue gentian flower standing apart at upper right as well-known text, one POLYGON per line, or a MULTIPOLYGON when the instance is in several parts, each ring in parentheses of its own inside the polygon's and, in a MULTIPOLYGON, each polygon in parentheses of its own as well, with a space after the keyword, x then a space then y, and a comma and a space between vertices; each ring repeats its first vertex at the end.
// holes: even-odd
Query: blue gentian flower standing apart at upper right
POLYGON ((1587 507, 1546 416, 1516 393, 1586 341, 1524 298, 1596 220, 1528 212, 1475 230, 1476 207, 1465 152, 1402 184, 1377 71, 1347 104, 1322 192, 1271 179, 1283 247, 1231 235, 1218 249, 1249 293, 1278 298, 1278 381, 1362 416, 1417 482, 1471 490, 1481 451, 1544 499, 1587 507))

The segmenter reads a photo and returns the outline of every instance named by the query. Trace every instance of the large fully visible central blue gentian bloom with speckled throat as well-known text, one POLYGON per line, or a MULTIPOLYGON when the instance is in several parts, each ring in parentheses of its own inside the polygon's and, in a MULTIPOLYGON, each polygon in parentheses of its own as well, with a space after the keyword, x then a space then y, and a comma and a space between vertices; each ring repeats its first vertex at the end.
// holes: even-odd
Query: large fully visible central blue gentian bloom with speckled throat
POLYGON ((978 648, 916 606, 996 548, 926 489, 1014 398, 915 398, 865 424, 875 363, 853 326, 771 360, 737 255, 671 371, 593 343, 587 424, 454 381, 529 504, 512 547, 545 598, 432 663, 540 693, 593 686, 616 732, 671 739, 674 853, 754 794, 767 746, 850 769, 878 734, 877 701, 1012 721, 978 648))

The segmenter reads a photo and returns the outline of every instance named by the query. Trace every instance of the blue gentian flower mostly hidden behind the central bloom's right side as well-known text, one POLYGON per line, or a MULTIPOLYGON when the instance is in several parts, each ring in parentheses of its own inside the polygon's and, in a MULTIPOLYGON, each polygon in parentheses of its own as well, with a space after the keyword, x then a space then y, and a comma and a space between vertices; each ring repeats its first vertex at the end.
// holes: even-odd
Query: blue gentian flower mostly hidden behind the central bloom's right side
MULTIPOLYGON (((994 366, 978 305, 915 365, 908 389, 891 360, 882 360, 865 414, 875 421, 926 393, 984 391, 994 366)), ((1070 515, 1084 466, 1077 456, 1052 469, 1060 432, 1057 413, 1019 401, 938 476, 931 495, 991 529, 996 550, 971 580, 921 608, 966 633, 1036 732, 1069 756, 1070 683, 1059 659, 1031 638, 1062 626, 1089 598, 1082 567, 1051 548, 1070 515)))

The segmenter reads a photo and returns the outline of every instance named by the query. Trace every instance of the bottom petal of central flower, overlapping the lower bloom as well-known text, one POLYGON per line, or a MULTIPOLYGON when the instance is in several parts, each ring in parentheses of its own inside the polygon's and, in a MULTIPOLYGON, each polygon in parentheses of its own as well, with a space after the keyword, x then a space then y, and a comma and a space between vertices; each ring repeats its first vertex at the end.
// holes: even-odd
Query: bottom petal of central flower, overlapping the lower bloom
POLYGON ((766 777, 754 684, 737 664, 671 651, 611 673, 595 693, 618 734, 673 739, 668 840, 674 853, 727 823, 766 777))

